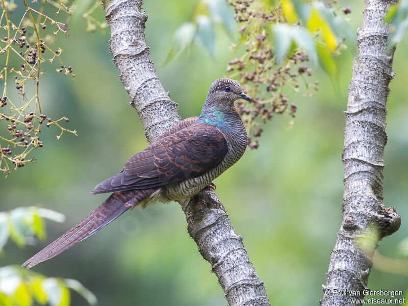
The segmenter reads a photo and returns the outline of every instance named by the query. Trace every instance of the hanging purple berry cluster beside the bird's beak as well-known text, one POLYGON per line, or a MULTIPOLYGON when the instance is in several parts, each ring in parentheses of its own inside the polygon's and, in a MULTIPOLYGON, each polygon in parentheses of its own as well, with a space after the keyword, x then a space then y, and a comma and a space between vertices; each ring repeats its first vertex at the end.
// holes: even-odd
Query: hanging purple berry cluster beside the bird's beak
MULTIPOLYGON (((309 57, 301 49, 296 49, 283 63, 276 64, 274 45, 270 40, 273 22, 285 22, 279 8, 253 0, 228 0, 234 7, 237 22, 241 24, 239 33, 241 45, 235 46, 242 55, 232 60, 226 68, 230 78, 238 79, 251 101, 239 100, 238 112, 241 114, 248 131, 248 146, 259 146, 258 138, 262 135, 261 124, 270 120, 273 114, 285 114, 294 118, 297 107, 289 104, 287 90, 299 91, 299 81, 306 90, 312 70, 307 66, 309 57)), ((318 83, 314 88, 318 90, 318 83)), ((310 95, 308 91, 308 95, 310 95)))

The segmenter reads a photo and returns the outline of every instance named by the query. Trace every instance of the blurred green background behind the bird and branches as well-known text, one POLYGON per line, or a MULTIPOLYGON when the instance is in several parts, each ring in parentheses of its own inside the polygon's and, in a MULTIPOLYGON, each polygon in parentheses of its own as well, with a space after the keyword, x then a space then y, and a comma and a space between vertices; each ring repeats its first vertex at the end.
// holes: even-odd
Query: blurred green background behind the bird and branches
MULTIPOLYGON (((225 75, 228 61, 235 57, 228 48, 232 39, 220 27, 215 60, 195 45, 161 67, 174 31, 189 19, 195 5, 189 0, 146 1, 144 5, 152 61, 165 89, 180 104, 183 118, 199 114, 209 86, 225 75)), ((350 1, 349 5, 355 32, 362 22, 363 2, 350 1)), ((98 10, 96 16, 103 20, 104 11, 98 10)), ((67 39, 60 35, 56 45, 64 50, 64 64, 72 66, 77 76, 71 82, 49 66, 41 81, 41 107, 53 118, 67 116, 66 126, 77 129, 79 137, 66 134, 57 141, 58 131, 44 128, 44 148, 35 151, 36 163, 0 179, 1 211, 41 206, 64 213, 67 221, 48 222, 46 242, 24 249, 8 243, 0 266, 21 264, 96 208, 106 196, 91 196, 90 190, 146 146, 143 126, 127 105, 129 96, 111 64, 109 31, 86 33, 84 20, 69 27, 71 35, 67 39)), ((388 100, 384 198, 387 207, 397 208, 402 225, 380 242, 378 251, 392 258, 408 236, 407 47, 408 40, 397 47, 396 77, 388 100)), ((291 97, 298 106, 292 129, 287 129, 282 117, 274 117, 264 127, 259 149, 247 150, 214 182, 275 305, 313 305, 322 297, 321 285, 341 223, 343 111, 353 52, 349 49, 336 60, 338 89, 316 69, 319 91, 311 98, 291 97)), ((11 91, 17 95, 14 88, 11 91)), ((78 279, 96 294, 101 306, 226 304, 210 265, 187 234, 177 203, 137 208, 34 270, 78 279)), ((374 268, 369 288, 405 291, 408 277, 374 268)), ((80 296, 72 295, 72 305, 85 304, 80 296)))

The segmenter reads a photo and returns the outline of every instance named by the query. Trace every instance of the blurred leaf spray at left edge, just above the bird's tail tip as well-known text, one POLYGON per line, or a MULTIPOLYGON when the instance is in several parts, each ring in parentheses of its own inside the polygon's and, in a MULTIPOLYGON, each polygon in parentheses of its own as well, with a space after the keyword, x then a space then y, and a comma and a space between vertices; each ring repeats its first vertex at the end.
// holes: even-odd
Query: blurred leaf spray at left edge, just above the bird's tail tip
POLYGON ((19 207, 8 212, 0 212, 0 252, 9 238, 20 247, 32 243, 33 237, 44 240, 43 219, 63 222, 65 216, 38 207, 19 207))

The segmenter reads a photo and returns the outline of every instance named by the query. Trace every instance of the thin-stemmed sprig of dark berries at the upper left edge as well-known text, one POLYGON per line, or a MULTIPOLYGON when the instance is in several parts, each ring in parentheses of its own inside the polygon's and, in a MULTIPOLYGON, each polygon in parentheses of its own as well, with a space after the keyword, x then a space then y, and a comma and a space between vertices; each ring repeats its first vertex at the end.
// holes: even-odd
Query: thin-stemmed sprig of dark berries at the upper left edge
MULTIPOLYGON (((3 17, 0 18, 0 28, 7 33, 3 39, 0 39, 0 57, 3 57, 5 63, 3 69, 0 68, 0 80, 4 82, 3 95, 0 96, 0 108, 2 108, 0 128, 8 133, 8 136, 3 135, 4 133, 0 136, 0 171, 7 175, 10 173, 10 163, 15 166, 15 169, 22 167, 27 162, 33 161, 28 155, 34 148, 43 147, 39 137, 43 122, 47 127, 55 125, 60 129, 57 139, 64 131, 76 135, 76 131, 68 130, 60 124, 62 120, 68 122, 66 117, 55 120, 41 113, 39 96, 40 76, 46 72, 47 67, 44 62, 47 57, 50 63, 57 59, 65 69, 65 75, 75 76, 72 67, 65 66, 60 58, 62 49, 50 47, 55 40, 53 35, 46 33, 48 31, 40 30, 45 30, 47 25, 51 25, 55 29, 52 34, 68 35, 66 20, 60 22, 49 17, 50 14, 47 15, 47 13, 59 13, 61 8, 68 10, 68 7, 62 2, 58 5, 58 1, 44 0, 42 3, 32 3, 30 7, 25 0, 22 0, 22 3, 25 6, 25 13, 22 13, 19 22, 15 23, 9 18, 14 7, 7 2, 4 3, 3 17), (55 7, 58 8, 57 12, 55 7), (16 62, 18 66, 12 64, 16 62), (10 84, 8 79, 13 78, 20 99, 12 98, 12 94, 7 95, 7 91, 13 90, 8 86, 10 84), (33 80, 35 84, 35 91, 32 93, 24 88, 29 80, 33 80), (2 125, 2 121, 6 124, 2 125)), ((69 19, 69 15, 62 18, 69 19)))

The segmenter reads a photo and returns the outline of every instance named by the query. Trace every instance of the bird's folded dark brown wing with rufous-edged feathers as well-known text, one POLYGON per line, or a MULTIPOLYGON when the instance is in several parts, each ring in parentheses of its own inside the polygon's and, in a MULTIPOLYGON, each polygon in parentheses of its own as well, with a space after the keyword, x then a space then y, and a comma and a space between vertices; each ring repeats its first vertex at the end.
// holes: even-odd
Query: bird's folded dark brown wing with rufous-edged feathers
POLYGON ((92 194, 154 188, 197 177, 217 166, 227 150, 217 127, 196 123, 132 156, 122 172, 98 184, 92 194))

